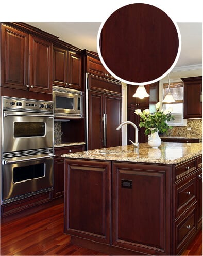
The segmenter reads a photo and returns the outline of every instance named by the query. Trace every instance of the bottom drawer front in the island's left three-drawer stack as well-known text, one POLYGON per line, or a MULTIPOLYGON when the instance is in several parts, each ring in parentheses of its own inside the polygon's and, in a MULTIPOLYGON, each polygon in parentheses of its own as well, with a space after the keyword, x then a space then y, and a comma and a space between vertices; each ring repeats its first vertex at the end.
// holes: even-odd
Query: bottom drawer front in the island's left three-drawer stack
POLYGON ((194 235, 195 228, 195 218, 196 218, 196 208, 195 205, 190 209, 189 212, 185 213, 181 218, 179 218, 175 223, 175 255, 178 255, 180 250, 194 235))

